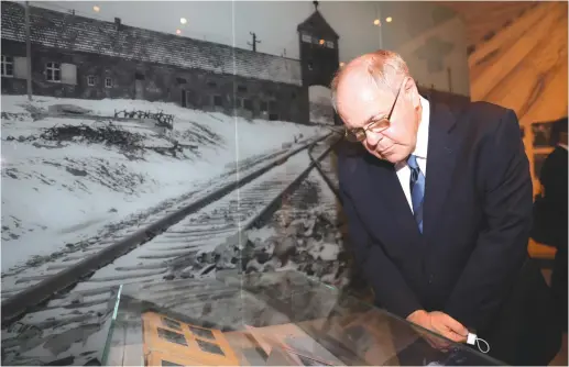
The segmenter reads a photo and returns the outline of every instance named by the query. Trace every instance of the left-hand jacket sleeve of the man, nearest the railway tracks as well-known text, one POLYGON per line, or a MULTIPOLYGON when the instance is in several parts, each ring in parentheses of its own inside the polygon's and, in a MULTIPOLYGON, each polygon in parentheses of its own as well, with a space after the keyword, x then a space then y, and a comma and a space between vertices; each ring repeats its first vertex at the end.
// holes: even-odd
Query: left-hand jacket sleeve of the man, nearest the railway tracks
POLYGON ((401 318, 406 318, 413 311, 422 309, 400 270, 385 255, 380 244, 370 238, 352 200, 342 189, 341 180, 340 200, 343 212, 348 216, 349 238, 355 263, 362 268, 365 278, 371 283, 375 293, 375 302, 401 318))

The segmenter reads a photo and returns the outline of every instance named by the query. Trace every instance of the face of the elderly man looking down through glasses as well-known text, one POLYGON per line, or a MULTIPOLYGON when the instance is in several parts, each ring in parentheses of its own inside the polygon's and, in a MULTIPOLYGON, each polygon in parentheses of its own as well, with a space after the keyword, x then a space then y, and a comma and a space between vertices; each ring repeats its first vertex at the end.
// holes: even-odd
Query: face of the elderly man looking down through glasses
POLYGON ((365 149, 394 164, 406 159, 415 149, 420 107, 411 78, 405 78, 400 88, 395 99, 393 91, 379 88, 369 76, 360 74, 346 76, 337 90, 338 113, 346 127, 365 129, 365 138, 362 141, 365 149), (386 129, 366 129, 387 116, 390 124, 386 129))

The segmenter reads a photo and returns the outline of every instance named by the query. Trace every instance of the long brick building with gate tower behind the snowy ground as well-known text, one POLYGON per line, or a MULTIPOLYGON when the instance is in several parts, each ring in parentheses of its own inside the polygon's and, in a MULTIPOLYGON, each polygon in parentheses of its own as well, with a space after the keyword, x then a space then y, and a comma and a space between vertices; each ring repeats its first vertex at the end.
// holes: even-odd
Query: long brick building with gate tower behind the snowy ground
MULTIPOLYGON (((24 8, 2 1, 2 93, 25 94, 24 8)), ((124 98, 308 123, 308 87, 329 86, 338 35, 316 10, 298 25, 300 59, 30 8, 32 90, 124 98)))

